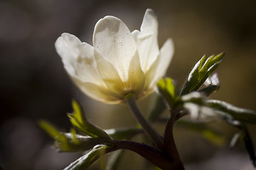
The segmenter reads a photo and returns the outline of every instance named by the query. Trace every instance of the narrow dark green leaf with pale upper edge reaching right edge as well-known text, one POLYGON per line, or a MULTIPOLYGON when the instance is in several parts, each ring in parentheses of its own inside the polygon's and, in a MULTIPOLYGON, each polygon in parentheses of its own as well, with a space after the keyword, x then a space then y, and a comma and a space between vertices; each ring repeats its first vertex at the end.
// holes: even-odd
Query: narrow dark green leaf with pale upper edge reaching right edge
POLYGON ((228 114, 234 120, 239 120, 242 123, 256 123, 256 113, 249 109, 238 108, 231 105, 230 103, 218 100, 206 101, 206 106, 210 108, 215 108, 215 110, 220 111, 224 114, 228 114))

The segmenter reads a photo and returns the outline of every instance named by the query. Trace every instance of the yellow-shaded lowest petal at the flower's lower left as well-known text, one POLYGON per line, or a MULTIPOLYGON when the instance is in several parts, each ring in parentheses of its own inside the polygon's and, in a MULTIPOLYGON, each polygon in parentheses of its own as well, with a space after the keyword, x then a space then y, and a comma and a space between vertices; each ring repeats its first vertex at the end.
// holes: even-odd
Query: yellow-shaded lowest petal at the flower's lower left
POLYGON ((97 84, 82 82, 80 79, 75 78, 73 81, 84 94, 95 99, 96 101, 110 104, 122 103, 123 101, 119 94, 106 89, 105 86, 98 86, 97 84))

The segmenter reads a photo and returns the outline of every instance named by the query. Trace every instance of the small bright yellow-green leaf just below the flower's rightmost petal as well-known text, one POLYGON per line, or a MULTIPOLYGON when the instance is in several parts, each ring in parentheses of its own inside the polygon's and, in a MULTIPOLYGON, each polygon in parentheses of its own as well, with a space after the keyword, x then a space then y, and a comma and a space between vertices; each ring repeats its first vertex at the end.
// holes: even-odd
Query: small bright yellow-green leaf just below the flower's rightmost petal
POLYGON ((175 86, 171 78, 161 79, 157 83, 159 93, 164 96, 166 102, 169 104, 170 108, 174 108, 176 104, 176 91, 175 86))

